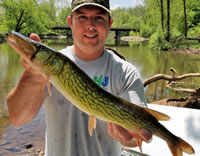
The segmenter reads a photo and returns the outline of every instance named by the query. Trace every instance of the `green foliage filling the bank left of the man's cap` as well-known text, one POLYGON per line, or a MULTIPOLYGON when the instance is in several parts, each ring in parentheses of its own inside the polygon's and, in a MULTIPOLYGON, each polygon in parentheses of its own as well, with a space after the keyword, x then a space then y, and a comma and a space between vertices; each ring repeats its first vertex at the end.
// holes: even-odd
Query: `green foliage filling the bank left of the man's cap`
MULTIPOLYGON (((56 0, 0 0, 0 33, 15 30, 25 35, 46 34, 62 22, 56 0), (58 21, 58 22, 57 22, 58 21)), ((63 8, 63 13, 66 9, 63 8)), ((69 10, 69 9, 67 9, 69 10)), ((68 11, 69 12, 69 11, 68 11)), ((66 19, 65 19, 66 21, 66 19)))

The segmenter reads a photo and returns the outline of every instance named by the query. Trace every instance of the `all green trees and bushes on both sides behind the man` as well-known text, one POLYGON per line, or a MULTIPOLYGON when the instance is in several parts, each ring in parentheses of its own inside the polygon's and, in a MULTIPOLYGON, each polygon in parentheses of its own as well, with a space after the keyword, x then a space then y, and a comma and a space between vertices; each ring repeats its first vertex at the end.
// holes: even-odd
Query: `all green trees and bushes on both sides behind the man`
MULTIPOLYGON (((63 0, 0 0, 0 34, 15 30, 25 35, 53 32, 51 27, 67 25, 70 4, 63 0)), ((149 37, 149 46, 200 47, 200 1, 145 0, 144 6, 112 10, 113 27, 134 27, 138 35, 149 37)))

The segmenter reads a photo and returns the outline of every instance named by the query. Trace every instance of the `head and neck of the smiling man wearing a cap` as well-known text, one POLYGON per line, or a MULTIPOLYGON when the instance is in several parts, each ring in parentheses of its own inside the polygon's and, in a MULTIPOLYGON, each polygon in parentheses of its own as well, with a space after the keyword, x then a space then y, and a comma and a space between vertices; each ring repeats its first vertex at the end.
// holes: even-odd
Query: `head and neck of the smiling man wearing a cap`
MULTIPOLYGON (((72 3, 75 5, 77 2, 72 3)), ((76 56, 90 61, 103 54, 104 43, 113 20, 110 14, 101 7, 95 5, 83 7, 83 4, 80 6, 72 10, 72 16, 68 17, 68 22, 73 32, 76 56)))

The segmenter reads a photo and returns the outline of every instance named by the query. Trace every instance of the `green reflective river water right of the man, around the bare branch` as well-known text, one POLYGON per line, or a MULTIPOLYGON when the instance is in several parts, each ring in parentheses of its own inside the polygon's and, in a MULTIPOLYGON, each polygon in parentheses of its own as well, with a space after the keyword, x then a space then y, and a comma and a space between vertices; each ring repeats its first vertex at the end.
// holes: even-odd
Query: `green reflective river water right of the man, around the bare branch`
MULTIPOLYGON (((187 73, 200 73, 200 56, 190 56, 174 52, 158 52, 149 49, 147 46, 116 47, 128 61, 135 64, 140 70, 142 79, 162 73, 172 75, 170 68, 175 68, 177 75, 187 73)), ((200 85, 199 78, 188 78, 184 81, 200 85)), ((157 81, 147 86, 147 101, 152 102, 165 97, 184 97, 186 94, 177 93, 165 88, 166 81, 157 81)))

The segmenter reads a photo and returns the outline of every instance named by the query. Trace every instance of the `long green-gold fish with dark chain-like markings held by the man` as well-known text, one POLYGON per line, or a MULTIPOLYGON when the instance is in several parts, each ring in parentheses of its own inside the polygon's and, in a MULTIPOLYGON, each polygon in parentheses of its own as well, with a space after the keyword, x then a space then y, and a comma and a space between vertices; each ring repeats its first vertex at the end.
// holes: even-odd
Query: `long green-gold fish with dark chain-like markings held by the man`
MULTIPOLYGON (((141 128, 148 129, 167 142, 173 156, 182 156, 183 152, 194 154, 191 145, 172 134, 158 121, 169 120, 167 115, 140 107, 105 91, 67 56, 40 42, 14 31, 7 34, 6 39, 21 57, 34 62, 37 69, 47 75, 50 83, 72 104, 89 115, 90 135, 96 126, 96 118, 99 118, 134 133, 141 128)), ((142 139, 136 136, 136 142, 141 149, 142 139)))

